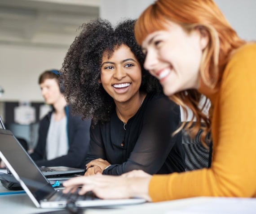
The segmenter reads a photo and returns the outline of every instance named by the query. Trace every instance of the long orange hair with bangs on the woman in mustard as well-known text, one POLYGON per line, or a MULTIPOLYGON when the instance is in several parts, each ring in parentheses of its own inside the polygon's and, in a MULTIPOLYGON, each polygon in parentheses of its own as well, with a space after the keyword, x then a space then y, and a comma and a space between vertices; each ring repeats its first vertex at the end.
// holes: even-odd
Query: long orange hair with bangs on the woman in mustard
MULTIPOLYGON (((154 31, 166 30, 167 21, 179 24, 187 32, 196 27, 207 30, 209 43, 203 51, 200 74, 206 86, 217 90, 231 53, 245 41, 238 37, 212 0, 157 0, 141 14, 135 24, 137 42, 141 44, 146 36, 154 31)), ((170 98, 181 105, 186 115, 186 106, 189 107, 193 112, 193 118, 196 119, 193 127, 193 121, 187 125, 183 123, 177 132, 185 126, 190 128, 189 133, 194 137, 202 128, 201 141, 204 143, 207 133, 211 131, 212 111, 210 109, 207 115, 203 113, 207 99, 203 106, 199 107, 202 94, 193 89, 178 92, 170 98)), ((205 143, 204 145, 206 146, 205 143)))

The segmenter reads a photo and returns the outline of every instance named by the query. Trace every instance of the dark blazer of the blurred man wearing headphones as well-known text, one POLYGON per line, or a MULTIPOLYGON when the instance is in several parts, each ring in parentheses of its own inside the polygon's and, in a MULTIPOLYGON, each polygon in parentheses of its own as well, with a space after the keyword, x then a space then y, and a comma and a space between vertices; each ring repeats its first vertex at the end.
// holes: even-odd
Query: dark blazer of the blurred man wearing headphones
POLYGON ((66 155, 52 160, 46 159, 46 137, 53 111, 49 112, 40 121, 39 137, 31 158, 38 166, 53 167, 66 166, 84 168, 88 152, 91 120, 82 120, 81 116, 71 115, 71 107, 65 107, 67 117, 67 132, 69 149, 66 155))

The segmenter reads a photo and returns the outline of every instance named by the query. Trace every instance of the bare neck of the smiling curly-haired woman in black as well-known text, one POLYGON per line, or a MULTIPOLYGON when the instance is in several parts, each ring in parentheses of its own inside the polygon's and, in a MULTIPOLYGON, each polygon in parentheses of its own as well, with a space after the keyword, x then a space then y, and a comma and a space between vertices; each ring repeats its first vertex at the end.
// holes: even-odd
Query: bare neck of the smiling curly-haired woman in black
POLYGON ((137 113, 145 97, 146 94, 138 92, 137 96, 134 96, 134 98, 128 102, 115 102, 116 114, 119 119, 127 123, 128 120, 137 113))

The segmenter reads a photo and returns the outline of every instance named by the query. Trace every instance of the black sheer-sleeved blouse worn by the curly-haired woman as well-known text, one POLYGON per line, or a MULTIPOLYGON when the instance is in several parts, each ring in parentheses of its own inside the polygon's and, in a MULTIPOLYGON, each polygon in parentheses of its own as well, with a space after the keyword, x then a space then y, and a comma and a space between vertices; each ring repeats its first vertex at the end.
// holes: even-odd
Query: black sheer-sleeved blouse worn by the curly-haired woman
POLYGON ((180 107, 163 94, 147 94, 137 113, 125 125, 115 111, 109 122, 90 128, 86 163, 96 158, 111 166, 103 174, 121 175, 134 169, 150 174, 185 171, 181 133, 172 137, 181 121, 180 107))

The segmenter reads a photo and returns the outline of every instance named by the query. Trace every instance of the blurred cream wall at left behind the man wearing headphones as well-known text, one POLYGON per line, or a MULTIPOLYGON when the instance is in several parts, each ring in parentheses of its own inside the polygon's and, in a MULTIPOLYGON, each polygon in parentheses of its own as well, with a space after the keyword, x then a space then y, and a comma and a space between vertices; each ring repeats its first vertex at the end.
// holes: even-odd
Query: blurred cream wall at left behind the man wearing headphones
POLYGON ((38 77, 46 69, 61 68, 67 48, 0 44, 1 101, 43 101, 38 77))

